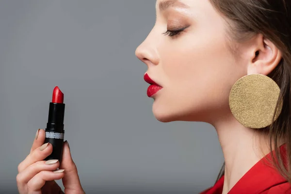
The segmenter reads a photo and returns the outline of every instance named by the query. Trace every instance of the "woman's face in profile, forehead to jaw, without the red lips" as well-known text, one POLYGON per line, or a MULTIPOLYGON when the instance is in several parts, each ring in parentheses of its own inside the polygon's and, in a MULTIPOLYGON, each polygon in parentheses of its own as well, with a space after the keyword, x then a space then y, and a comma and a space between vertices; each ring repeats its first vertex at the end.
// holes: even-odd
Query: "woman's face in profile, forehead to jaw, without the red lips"
POLYGON ((155 26, 136 49, 162 86, 151 96, 155 117, 212 122, 229 111, 230 89, 246 75, 227 46, 223 17, 208 0, 157 0, 156 12, 155 26))

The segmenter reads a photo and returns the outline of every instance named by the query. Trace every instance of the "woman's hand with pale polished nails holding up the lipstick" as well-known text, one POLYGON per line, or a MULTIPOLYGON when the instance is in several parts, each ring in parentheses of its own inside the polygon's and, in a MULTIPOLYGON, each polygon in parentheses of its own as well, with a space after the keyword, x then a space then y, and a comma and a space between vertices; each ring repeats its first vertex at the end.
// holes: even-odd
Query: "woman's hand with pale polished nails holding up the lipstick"
POLYGON ((52 152, 52 145, 43 144, 44 141, 45 130, 38 129, 30 154, 18 165, 16 181, 19 193, 63 194, 54 181, 62 178, 65 194, 85 194, 67 141, 64 143, 61 164, 57 160, 44 161, 52 152))

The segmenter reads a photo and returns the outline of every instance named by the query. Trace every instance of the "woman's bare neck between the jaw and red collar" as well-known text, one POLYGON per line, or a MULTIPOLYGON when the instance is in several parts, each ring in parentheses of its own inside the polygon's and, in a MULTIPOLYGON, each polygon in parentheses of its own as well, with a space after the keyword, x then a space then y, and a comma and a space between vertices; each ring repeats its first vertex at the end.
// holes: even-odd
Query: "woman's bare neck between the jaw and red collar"
POLYGON ((227 194, 252 166, 270 152, 266 143, 268 139, 256 129, 245 128, 232 115, 213 126, 225 158, 222 194, 227 194))

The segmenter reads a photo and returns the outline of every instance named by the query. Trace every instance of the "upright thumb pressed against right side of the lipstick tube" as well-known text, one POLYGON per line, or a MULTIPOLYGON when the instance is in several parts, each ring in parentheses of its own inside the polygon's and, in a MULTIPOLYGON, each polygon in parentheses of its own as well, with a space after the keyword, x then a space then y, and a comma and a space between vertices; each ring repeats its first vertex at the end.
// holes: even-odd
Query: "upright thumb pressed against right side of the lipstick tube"
POLYGON ((64 169, 65 176, 62 178, 65 193, 83 192, 77 166, 72 159, 70 147, 67 141, 64 143, 63 157, 59 169, 64 169))

